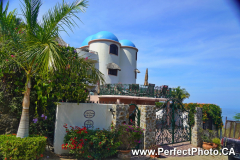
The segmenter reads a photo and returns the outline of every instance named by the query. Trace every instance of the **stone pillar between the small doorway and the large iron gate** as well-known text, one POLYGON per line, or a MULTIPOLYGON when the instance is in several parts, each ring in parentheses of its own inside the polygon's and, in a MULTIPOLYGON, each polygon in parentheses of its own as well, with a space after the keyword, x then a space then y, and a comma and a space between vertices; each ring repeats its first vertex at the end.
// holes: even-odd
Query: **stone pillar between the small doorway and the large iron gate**
POLYGON ((152 144, 155 144, 156 130, 156 106, 155 105, 138 105, 141 112, 140 127, 144 129, 144 139, 141 145, 142 149, 148 149, 152 144))

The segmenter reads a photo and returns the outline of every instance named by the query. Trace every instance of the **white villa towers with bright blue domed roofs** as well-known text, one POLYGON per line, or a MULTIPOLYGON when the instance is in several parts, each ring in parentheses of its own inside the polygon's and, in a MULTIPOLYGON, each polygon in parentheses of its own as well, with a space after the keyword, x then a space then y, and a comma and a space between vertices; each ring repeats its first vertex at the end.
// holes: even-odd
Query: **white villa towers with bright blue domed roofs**
POLYGON ((101 31, 87 37, 77 53, 96 60, 95 67, 105 76, 107 84, 136 84, 136 46, 129 40, 118 40, 111 32, 101 31))

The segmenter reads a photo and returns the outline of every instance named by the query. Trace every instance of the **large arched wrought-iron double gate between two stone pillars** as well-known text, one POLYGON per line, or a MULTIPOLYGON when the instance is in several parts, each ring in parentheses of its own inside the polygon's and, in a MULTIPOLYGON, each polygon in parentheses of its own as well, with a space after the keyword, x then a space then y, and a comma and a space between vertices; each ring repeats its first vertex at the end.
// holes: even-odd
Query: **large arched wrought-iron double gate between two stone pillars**
POLYGON ((169 99, 156 112, 156 145, 191 142, 188 121, 188 111, 183 104, 177 99, 169 99))

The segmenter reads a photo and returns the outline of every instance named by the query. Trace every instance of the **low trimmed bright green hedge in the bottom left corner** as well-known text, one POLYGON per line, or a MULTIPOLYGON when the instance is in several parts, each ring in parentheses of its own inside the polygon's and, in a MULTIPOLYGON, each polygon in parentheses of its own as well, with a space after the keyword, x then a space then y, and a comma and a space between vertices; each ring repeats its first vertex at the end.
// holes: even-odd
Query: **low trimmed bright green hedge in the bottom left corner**
POLYGON ((17 160, 35 160, 43 157, 45 137, 20 138, 16 135, 0 135, 0 158, 17 160))

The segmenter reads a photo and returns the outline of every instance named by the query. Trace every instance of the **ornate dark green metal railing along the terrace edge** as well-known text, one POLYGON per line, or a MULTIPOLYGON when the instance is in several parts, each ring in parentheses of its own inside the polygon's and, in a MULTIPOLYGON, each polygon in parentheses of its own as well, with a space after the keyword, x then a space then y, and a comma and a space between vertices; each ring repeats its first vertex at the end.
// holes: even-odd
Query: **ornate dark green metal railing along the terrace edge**
POLYGON ((139 84, 105 84, 100 85, 100 95, 125 95, 153 98, 170 98, 171 88, 168 86, 148 86, 139 84))

